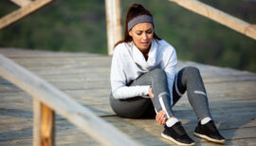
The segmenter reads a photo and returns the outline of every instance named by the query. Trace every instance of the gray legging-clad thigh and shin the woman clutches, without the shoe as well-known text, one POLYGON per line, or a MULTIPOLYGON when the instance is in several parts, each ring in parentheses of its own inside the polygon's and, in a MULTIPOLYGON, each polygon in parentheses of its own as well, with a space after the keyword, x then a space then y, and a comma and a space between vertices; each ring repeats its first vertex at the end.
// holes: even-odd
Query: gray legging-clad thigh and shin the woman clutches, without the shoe
MULTIPOLYGON (((152 85, 152 90, 154 93, 152 102, 155 110, 157 112, 160 110, 166 111, 167 119, 173 117, 169 94, 170 91, 168 88, 166 74, 162 69, 156 68, 151 70, 138 77, 137 80, 132 82, 130 85, 152 85)), ((151 99, 142 97, 116 100, 111 95, 110 103, 116 114, 118 114, 120 117, 126 118, 138 118, 143 115, 147 108, 152 107, 150 106, 151 99)))

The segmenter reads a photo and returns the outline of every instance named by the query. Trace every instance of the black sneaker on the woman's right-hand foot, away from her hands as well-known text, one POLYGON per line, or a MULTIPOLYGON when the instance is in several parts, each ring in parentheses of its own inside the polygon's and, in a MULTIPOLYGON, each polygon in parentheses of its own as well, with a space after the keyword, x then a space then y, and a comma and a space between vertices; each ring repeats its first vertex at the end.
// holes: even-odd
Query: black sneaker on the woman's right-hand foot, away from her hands
POLYGON ((212 120, 203 125, 199 121, 193 134, 197 137, 202 137, 212 142, 225 143, 225 138, 220 135, 212 120))

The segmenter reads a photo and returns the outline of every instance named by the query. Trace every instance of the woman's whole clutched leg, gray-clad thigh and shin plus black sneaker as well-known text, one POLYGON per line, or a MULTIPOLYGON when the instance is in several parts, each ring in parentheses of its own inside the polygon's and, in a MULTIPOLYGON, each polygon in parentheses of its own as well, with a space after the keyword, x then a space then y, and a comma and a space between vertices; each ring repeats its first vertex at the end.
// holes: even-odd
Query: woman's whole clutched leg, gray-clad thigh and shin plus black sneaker
MULTIPOLYGON (((166 124, 164 125, 164 132, 162 137, 174 141, 176 144, 192 145, 194 142, 187 135, 183 129, 181 122, 174 118, 174 114, 171 107, 170 90, 168 88, 167 76, 164 70, 155 69, 149 71, 131 85, 151 85, 154 97, 152 100, 155 107, 155 111, 165 111, 166 124), (173 121, 174 124, 170 124, 173 121)), ((151 107, 148 101, 150 99, 144 99, 141 97, 131 98, 127 100, 115 100, 113 97, 110 99, 113 110, 122 117, 137 118, 140 117, 147 108, 151 107)))

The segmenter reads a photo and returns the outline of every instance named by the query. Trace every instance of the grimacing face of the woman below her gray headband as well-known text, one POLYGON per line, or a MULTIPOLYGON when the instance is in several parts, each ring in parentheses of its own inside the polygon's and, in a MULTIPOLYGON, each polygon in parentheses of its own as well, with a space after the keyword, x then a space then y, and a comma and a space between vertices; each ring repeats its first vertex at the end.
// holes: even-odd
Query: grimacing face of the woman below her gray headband
POLYGON ((139 23, 129 31, 129 35, 141 52, 147 52, 152 42, 154 29, 151 23, 139 23))

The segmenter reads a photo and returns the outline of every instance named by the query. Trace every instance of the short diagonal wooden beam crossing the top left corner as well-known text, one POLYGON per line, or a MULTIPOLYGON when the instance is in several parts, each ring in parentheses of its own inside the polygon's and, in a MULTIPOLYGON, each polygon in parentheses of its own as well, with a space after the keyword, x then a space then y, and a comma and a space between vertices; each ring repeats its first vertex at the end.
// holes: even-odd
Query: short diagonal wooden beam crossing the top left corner
POLYGON ((48 3, 52 1, 53 0, 35 0, 29 3, 27 6, 9 13, 8 15, 0 19, 0 29, 4 27, 8 27, 10 24, 22 19, 23 17, 27 16, 31 12, 34 12, 35 10, 46 6, 48 3))

